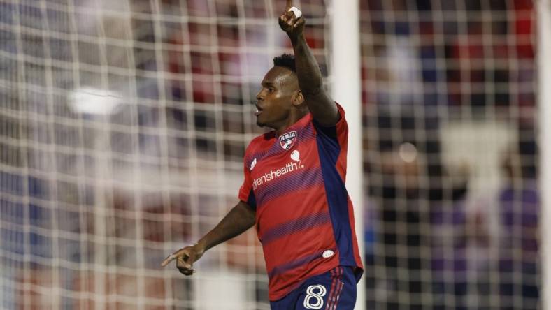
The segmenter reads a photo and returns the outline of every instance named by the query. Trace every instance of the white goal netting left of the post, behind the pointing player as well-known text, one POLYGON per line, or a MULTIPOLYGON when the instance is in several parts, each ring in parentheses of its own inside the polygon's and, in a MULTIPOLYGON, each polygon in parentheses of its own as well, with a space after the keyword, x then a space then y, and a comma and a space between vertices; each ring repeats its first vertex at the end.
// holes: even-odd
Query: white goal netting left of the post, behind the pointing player
MULTIPOLYGON (((323 1, 301 1, 322 67, 323 1)), ((285 1, 0 0, 0 307, 267 309, 254 232, 162 259, 237 202, 285 1)))

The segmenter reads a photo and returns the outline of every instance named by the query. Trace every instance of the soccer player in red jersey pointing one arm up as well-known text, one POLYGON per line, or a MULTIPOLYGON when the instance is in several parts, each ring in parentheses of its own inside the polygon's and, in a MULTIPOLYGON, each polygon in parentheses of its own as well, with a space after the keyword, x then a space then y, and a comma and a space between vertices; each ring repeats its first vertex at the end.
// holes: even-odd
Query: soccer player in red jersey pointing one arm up
POLYGON ((256 223, 269 276, 271 309, 354 309, 362 276, 352 203, 345 189, 348 126, 329 98, 304 38, 306 23, 287 0, 279 24, 294 57, 273 59, 257 94, 258 126, 250 142, 239 202, 196 244, 172 253, 180 272, 213 246, 256 223), (297 17, 299 15, 299 17, 297 17))

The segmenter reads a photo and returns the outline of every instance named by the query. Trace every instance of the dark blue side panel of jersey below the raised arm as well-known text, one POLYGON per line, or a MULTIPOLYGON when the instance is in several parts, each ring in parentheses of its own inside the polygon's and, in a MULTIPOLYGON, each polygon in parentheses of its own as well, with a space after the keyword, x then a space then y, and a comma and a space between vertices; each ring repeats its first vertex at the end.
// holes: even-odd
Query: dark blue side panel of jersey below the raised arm
POLYGON ((322 177, 333 224, 333 234, 339 252, 339 263, 344 266, 355 266, 352 229, 348 216, 348 192, 336 169, 336 162, 341 154, 341 146, 338 145, 336 137, 335 126, 318 129, 317 152, 322 166, 322 177))

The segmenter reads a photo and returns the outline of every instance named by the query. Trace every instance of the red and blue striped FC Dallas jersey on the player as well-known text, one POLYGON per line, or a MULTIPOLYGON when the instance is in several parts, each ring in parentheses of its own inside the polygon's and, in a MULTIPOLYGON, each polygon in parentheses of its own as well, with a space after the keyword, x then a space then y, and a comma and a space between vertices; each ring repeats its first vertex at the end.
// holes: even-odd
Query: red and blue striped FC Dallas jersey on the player
POLYGON ((253 139, 245 152, 239 199, 256 210, 270 300, 339 265, 362 275, 345 188, 348 124, 340 105, 338 111, 335 126, 321 126, 308 114, 282 135, 253 139))

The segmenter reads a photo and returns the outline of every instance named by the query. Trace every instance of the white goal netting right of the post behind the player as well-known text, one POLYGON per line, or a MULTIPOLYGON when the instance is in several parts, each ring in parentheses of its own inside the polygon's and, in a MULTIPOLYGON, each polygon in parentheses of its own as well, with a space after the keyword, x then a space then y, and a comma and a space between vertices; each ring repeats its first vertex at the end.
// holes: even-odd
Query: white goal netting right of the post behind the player
POLYGON ((368 309, 536 309, 533 1, 361 1, 368 309))

